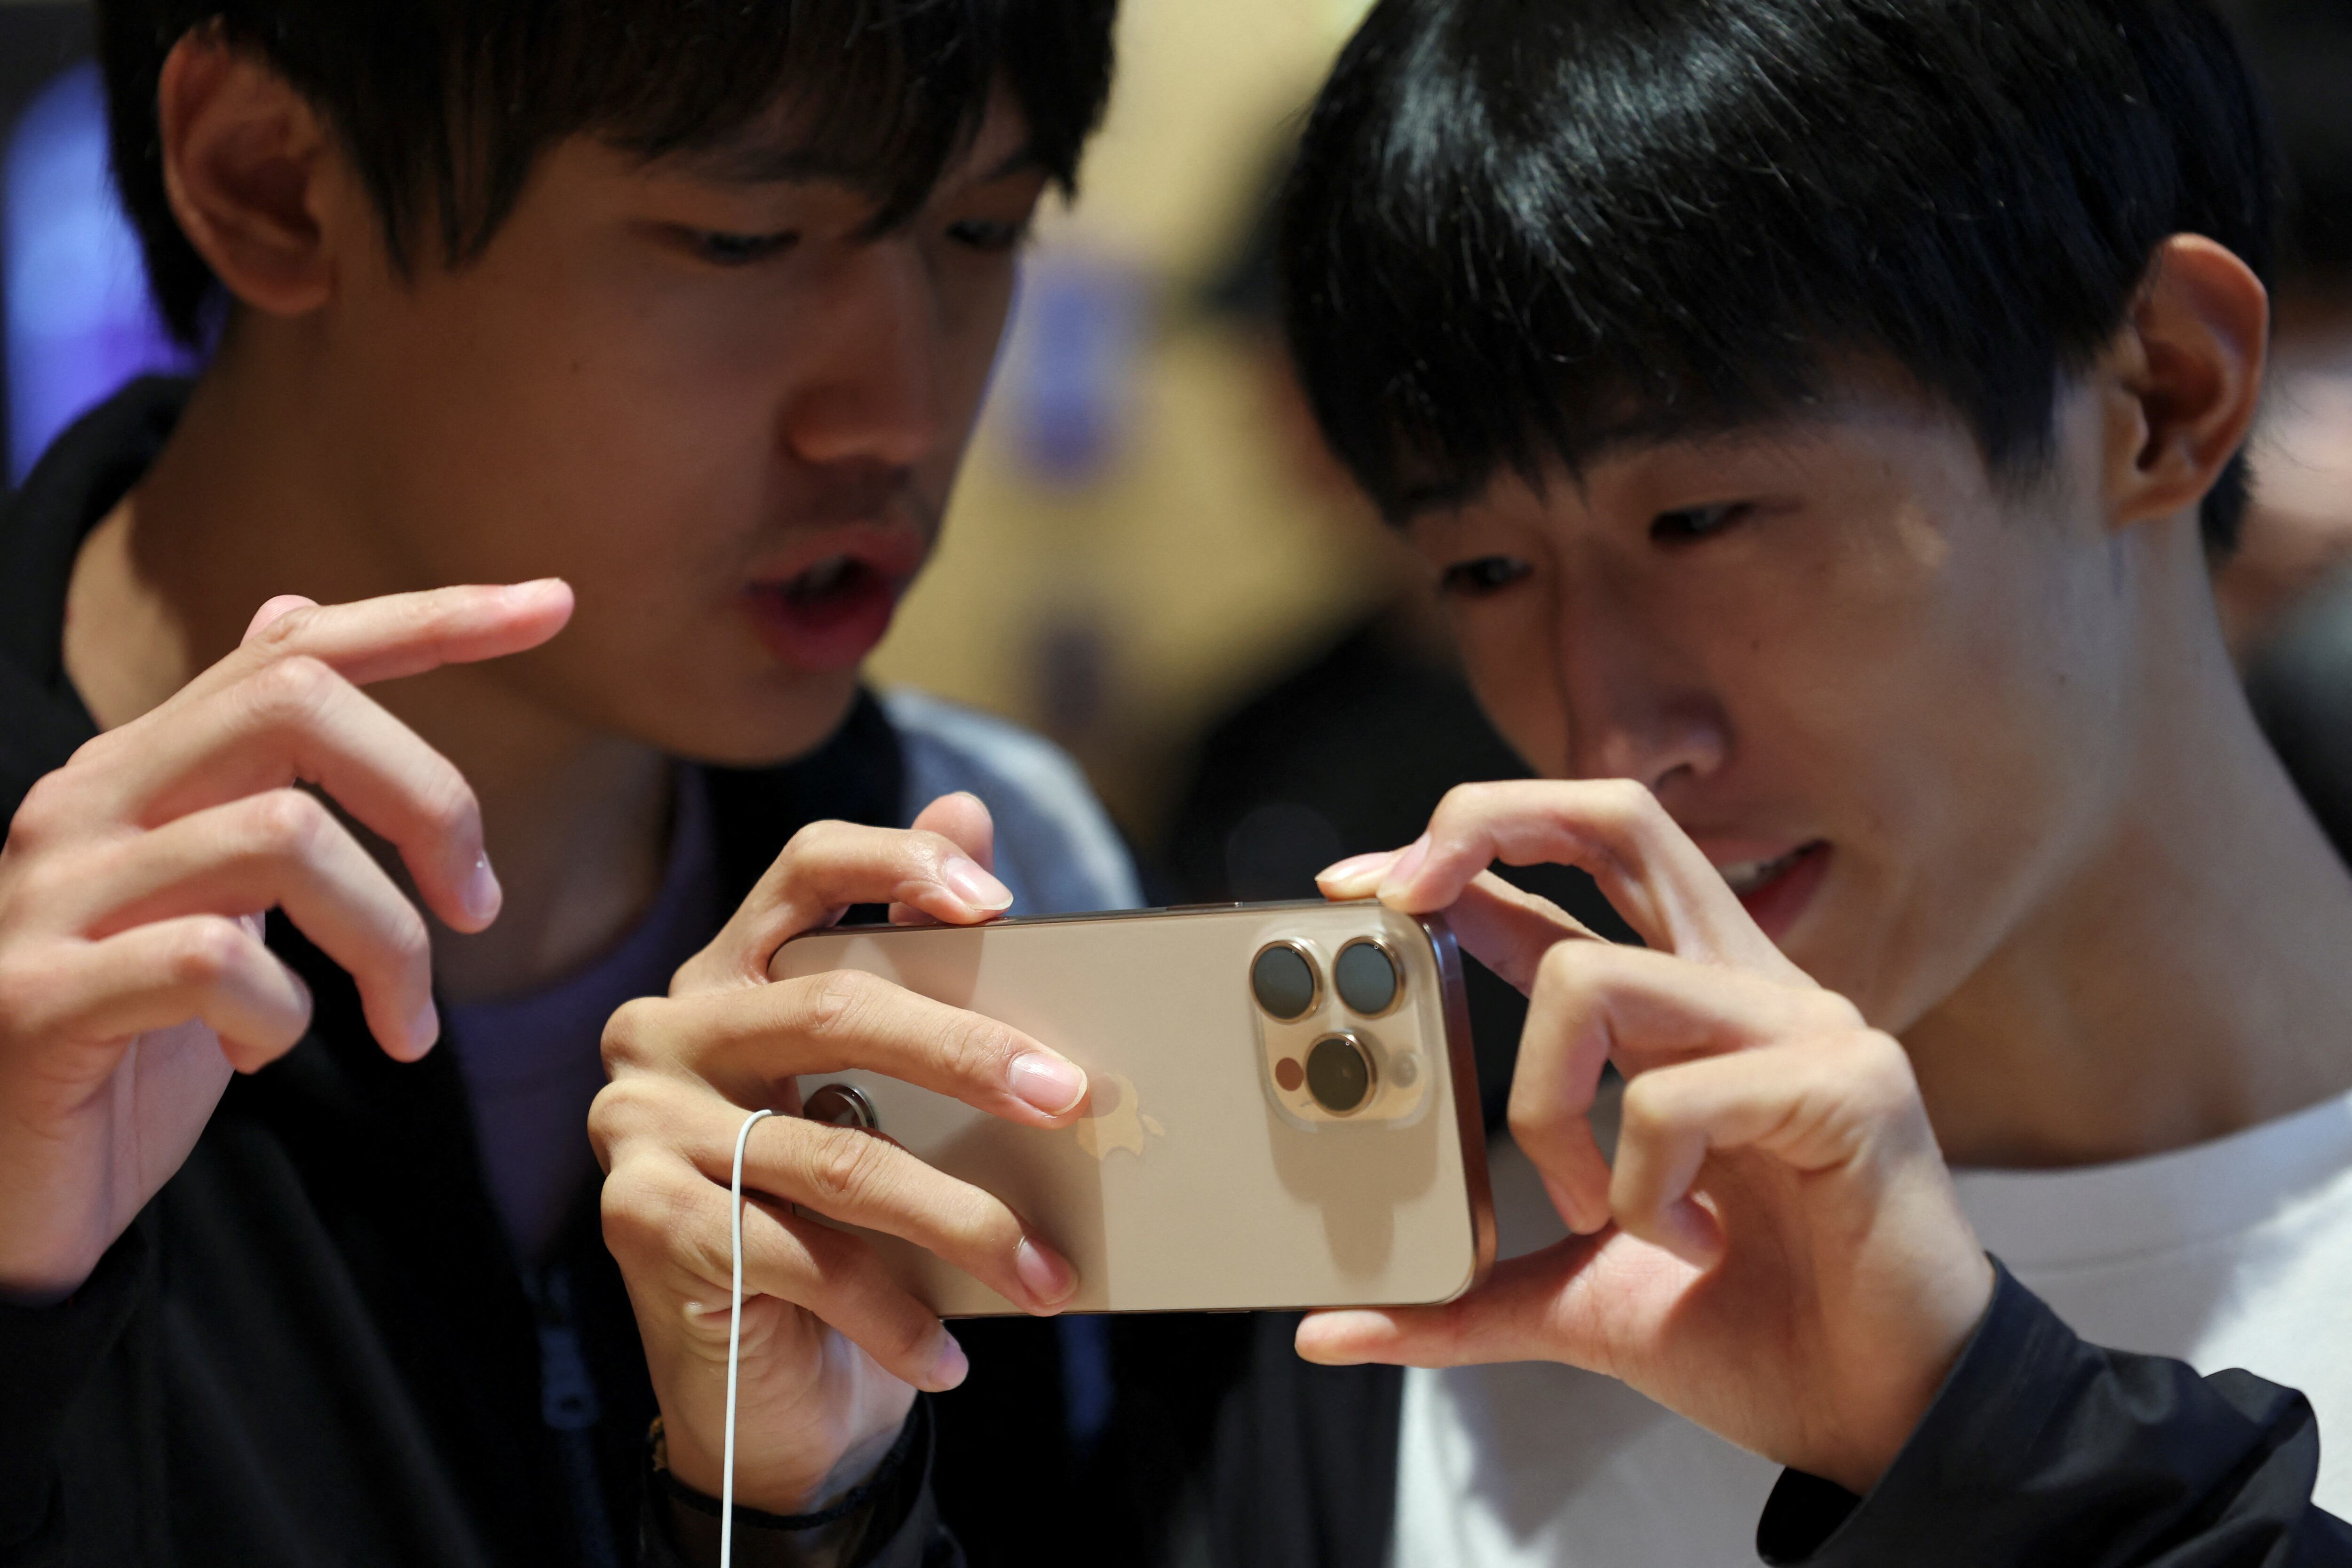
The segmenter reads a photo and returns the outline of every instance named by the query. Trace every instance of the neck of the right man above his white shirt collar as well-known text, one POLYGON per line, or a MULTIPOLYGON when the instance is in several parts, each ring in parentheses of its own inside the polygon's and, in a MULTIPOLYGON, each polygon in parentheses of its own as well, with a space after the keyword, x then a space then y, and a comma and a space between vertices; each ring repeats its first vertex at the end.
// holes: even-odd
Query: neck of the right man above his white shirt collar
MULTIPOLYGON (((2194 581, 2117 830, 1903 1044, 1945 1157, 2082 1166, 2352 1088, 2352 877, 2253 724, 2194 581)), ((2176 574, 2178 576, 2178 574, 2176 574)), ((2161 658, 2161 654, 2159 654, 2161 658)))

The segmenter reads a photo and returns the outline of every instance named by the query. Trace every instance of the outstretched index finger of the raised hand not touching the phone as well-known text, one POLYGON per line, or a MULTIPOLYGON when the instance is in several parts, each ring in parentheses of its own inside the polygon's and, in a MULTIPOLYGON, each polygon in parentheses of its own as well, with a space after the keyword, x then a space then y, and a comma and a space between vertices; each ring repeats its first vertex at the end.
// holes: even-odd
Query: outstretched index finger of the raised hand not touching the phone
POLYGON ((536 649, 569 618, 572 585, 562 578, 301 604, 261 623, 235 654, 181 686, 172 703, 200 703, 292 656, 315 658, 355 686, 503 658, 536 649))

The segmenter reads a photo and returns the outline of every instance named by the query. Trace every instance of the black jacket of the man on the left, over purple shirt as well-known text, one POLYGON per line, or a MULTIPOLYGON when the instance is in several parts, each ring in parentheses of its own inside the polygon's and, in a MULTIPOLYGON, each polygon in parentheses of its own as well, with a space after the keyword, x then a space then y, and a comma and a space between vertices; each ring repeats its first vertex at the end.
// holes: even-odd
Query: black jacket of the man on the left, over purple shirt
MULTIPOLYGON (((94 733, 66 578, 183 397, 129 388, 0 520, 0 818, 94 733)), ((734 907, 800 823, 896 823, 898 743, 866 701, 797 766, 715 771, 710 799, 734 907)), ((637 1561, 654 1394, 593 1185, 555 1262, 520 1267, 456 1058, 395 1065, 341 971, 280 919, 270 947, 310 1034, 228 1086, 71 1300, 0 1307, 0 1563, 637 1561)))

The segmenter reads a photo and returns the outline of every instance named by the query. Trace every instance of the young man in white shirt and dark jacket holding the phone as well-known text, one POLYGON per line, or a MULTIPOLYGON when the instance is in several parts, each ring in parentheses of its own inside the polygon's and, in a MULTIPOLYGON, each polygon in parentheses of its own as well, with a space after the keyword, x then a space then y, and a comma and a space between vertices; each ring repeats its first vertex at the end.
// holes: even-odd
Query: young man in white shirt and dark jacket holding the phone
POLYGON ((1270 1324, 1223 1561, 2352 1559, 2352 877, 2211 583, 2272 183, 2199 0, 1374 7, 1291 346, 1545 780, 1322 886, 1531 992, 1512 1258, 1270 1324))

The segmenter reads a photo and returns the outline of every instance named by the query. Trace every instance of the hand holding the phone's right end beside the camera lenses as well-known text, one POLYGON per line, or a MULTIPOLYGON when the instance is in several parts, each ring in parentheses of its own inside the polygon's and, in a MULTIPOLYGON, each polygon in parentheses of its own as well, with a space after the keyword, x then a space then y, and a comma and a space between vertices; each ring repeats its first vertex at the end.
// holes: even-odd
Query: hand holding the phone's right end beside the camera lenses
POLYGON ((1903 1048, 1797 971, 1632 783, 1456 790, 1423 842, 1324 891, 1449 910, 1529 992, 1510 1128, 1578 1234, 1446 1307, 1315 1314, 1298 1352, 1566 1361, 1867 1490, 1992 1300, 1903 1048), (1595 940, 1494 860, 1592 872, 1649 950, 1595 940), (1613 1171, 1590 1126, 1609 1060, 1613 1171))

